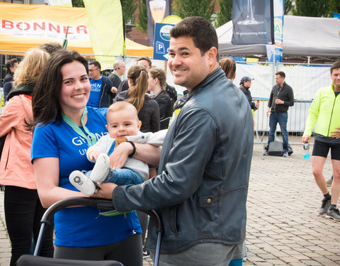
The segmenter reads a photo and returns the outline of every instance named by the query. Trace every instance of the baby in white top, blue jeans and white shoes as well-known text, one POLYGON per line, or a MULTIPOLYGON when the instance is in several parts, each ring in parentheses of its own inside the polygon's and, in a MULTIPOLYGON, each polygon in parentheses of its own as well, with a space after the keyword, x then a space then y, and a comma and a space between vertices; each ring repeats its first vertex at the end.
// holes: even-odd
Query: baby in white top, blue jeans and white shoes
POLYGON ((121 169, 110 167, 110 155, 120 143, 128 141, 133 146, 132 155, 137 154, 135 143, 149 143, 160 146, 164 142, 167 130, 156 133, 141 133, 142 122, 138 120, 135 106, 128 101, 118 101, 108 108, 106 113, 108 134, 103 135, 86 153, 88 160, 96 162, 89 172, 73 171, 69 182, 80 192, 91 196, 97 192, 96 182, 113 182, 118 185, 140 184, 149 179, 149 167, 145 162, 132 156, 121 169))

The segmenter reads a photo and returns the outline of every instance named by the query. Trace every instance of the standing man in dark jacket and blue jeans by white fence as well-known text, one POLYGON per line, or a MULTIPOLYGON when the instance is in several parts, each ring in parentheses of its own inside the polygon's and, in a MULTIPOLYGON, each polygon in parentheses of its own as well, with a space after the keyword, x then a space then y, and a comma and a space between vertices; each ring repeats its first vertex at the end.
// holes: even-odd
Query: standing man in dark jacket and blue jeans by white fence
POLYGON ((285 83, 285 72, 275 73, 276 85, 271 89, 269 96, 267 117, 269 116, 268 145, 263 155, 268 155, 269 144, 274 141, 276 126, 280 125, 283 138, 283 157, 288 157, 288 108, 294 105, 294 93, 292 87, 285 83))

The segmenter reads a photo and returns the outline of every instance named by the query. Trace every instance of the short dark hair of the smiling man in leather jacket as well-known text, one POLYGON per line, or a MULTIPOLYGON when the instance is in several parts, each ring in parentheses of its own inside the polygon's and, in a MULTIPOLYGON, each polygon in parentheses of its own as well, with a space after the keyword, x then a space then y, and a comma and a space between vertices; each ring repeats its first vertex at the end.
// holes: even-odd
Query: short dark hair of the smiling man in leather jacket
POLYGON ((212 47, 218 50, 215 28, 209 21, 200 16, 184 18, 171 29, 170 36, 171 38, 186 36, 193 38, 193 44, 200 49, 202 56, 212 47))

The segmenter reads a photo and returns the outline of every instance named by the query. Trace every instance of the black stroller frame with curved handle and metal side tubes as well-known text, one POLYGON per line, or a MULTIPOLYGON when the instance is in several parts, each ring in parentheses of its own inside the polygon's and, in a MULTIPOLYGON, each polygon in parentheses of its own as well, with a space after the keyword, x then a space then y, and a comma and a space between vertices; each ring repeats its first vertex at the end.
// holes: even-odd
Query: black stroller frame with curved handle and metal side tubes
MULTIPOLYGON (((96 198, 85 198, 85 197, 73 197, 69 199, 63 199, 61 201, 56 202, 50 208, 48 208, 45 211, 45 214, 41 218, 41 227, 40 232, 38 235, 37 244, 35 245, 34 250, 34 256, 38 256, 40 253, 40 249, 42 246, 42 240, 45 235, 45 226, 50 224, 50 221, 54 214, 57 211, 60 211, 61 209, 71 207, 71 206, 94 206, 99 210, 106 210, 106 211, 112 211, 113 210, 113 204, 111 200, 107 199, 96 199, 96 198)), ((158 214, 154 210, 140 210, 144 212, 145 214, 148 214, 151 219, 154 220, 154 222, 157 225, 157 245, 156 245, 156 251, 154 255, 154 266, 158 266, 159 263, 159 252, 161 248, 161 241, 162 241, 162 233, 163 233, 163 225, 162 221, 159 218, 158 214)))

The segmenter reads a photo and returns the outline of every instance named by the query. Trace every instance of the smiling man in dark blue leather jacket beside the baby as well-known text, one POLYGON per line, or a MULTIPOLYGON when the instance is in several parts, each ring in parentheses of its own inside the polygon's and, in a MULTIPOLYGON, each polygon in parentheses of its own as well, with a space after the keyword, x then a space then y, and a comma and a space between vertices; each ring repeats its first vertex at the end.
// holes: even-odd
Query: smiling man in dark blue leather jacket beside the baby
MULTIPOLYGON (((170 34, 168 66, 189 93, 164 140, 158 176, 135 186, 99 184, 97 196, 112 198, 118 211, 157 211, 164 225, 159 265, 242 265, 254 142, 250 106, 218 64, 210 22, 184 18, 170 34)), ((127 143, 126 153, 147 160, 137 144, 127 143)), ((152 256, 156 242, 151 220, 146 248, 152 256)))

